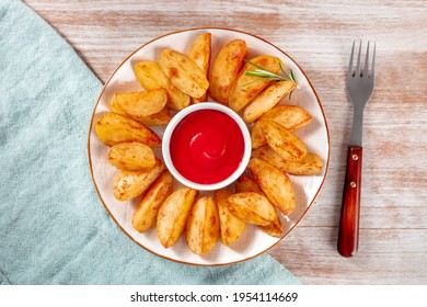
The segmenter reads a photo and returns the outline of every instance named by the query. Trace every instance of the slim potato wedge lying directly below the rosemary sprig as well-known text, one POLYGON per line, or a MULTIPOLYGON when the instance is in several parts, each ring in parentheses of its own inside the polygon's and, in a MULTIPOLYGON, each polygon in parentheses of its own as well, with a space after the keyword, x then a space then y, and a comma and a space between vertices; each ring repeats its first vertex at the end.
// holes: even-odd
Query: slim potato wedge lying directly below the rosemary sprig
POLYGON ((297 83, 292 81, 278 81, 268 86, 243 110, 243 120, 246 124, 252 124, 261 115, 272 110, 285 96, 287 96, 297 83))

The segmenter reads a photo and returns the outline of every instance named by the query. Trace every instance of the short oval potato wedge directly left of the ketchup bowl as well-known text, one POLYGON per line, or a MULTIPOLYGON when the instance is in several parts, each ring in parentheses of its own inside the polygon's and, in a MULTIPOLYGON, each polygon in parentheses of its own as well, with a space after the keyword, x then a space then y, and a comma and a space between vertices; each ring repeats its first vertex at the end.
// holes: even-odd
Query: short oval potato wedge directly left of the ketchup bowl
POLYGON ((138 141, 114 145, 108 150, 108 162, 119 170, 142 171, 155 166, 154 152, 150 147, 138 141))

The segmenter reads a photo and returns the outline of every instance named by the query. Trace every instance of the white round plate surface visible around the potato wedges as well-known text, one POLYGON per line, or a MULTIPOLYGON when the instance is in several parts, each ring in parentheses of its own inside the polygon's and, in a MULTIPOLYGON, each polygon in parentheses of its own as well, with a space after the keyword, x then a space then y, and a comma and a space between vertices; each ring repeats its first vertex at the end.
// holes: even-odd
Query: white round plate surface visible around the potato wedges
MULTIPOLYGON (((164 127, 155 127, 153 130, 162 137, 164 127)), ((118 66, 105 83, 93 111, 89 130, 88 150, 93 182, 101 202, 117 226, 131 240, 152 253, 169 260, 197 265, 222 265, 244 261, 267 251, 286 237, 302 219, 318 196, 326 177, 330 161, 330 136, 319 96, 308 77, 295 60, 273 44, 254 35, 233 30, 206 27, 184 30, 154 38, 134 52, 118 66), (323 159, 324 168, 323 172, 319 175, 290 175, 296 191, 297 207, 291 214, 281 216, 284 226, 284 236, 281 238, 270 237, 258 228, 249 225, 242 236, 231 246, 226 247, 219 240, 217 246, 208 254, 197 255, 187 247, 185 236, 182 236, 173 247, 165 249, 161 246, 157 237, 155 227, 145 234, 139 234, 134 229, 131 217, 139 198, 118 202, 114 197, 113 182, 118 170, 108 163, 108 147, 102 144, 96 137, 94 123, 102 114, 109 112, 107 107, 108 101, 115 92, 138 91, 142 89, 132 70, 137 62, 142 60, 158 60, 159 53, 166 47, 186 53, 191 43, 204 32, 211 33, 212 60, 223 44, 231 39, 240 38, 246 42, 249 49, 247 58, 263 54, 276 56, 282 60, 286 69, 293 70, 295 77, 301 88, 293 91, 291 101, 287 98, 281 103, 298 105, 312 115, 312 122, 298 130, 297 135, 304 141, 310 151, 319 155, 323 159)), ((155 154, 161 157, 160 150, 155 150, 155 154)), ((200 196, 204 194, 200 193, 200 196)))

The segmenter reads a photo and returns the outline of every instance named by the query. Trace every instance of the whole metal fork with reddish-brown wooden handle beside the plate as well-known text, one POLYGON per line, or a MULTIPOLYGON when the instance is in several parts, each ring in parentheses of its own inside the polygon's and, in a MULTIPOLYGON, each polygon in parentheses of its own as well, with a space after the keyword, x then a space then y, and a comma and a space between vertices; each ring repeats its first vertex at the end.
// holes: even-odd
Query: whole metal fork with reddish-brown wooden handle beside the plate
POLYGON ((356 68, 353 68, 356 42, 353 42, 350 62, 347 72, 347 94, 353 104, 353 127, 347 151, 347 168, 343 191, 343 204, 338 229, 338 252, 343 257, 357 253, 359 242, 359 214, 362 158, 363 109, 372 95, 374 87, 376 47, 373 44, 372 65, 369 71, 369 45, 365 56, 365 67, 360 67, 361 41, 356 68), (369 73, 370 72, 370 73, 369 73))

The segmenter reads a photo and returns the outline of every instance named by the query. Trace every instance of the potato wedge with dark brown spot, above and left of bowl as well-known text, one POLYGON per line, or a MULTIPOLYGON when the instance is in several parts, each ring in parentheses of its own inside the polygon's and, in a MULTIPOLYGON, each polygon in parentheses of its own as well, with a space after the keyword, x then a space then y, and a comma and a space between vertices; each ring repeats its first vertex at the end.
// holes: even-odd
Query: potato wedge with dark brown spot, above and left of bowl
POLYGON ((163 49, 159 66, 174 87, 192 98, 203 96, 209 88, 205 71, 180 52, 163 49))

